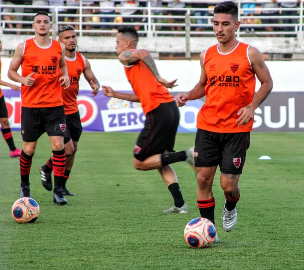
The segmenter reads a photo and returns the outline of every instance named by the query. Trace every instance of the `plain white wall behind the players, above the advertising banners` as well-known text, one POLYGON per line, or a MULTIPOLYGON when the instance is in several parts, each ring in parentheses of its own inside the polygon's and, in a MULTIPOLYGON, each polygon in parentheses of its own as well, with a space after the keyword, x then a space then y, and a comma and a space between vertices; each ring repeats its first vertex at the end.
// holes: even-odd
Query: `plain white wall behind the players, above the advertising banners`
MULTIPOLYGON (((11 58, 2 57, 1 79, 11 82, 7 78, 7 71, 11 58)), ((100 84, 112 86, 116 90, 132 90, 121 63, 116 59, 90 59, 92 70, 100 84)), ((200 63, 198 60, 155 60, 158 71, 167 80, 178 79, 179 86, 172 91, 189 91, 200 78, 200 63)), ((267 61, 270 74, 272 75, 275 92, 298 92, 304 91, 304 61, 267 61)), ((21 74, 21 69, 19 70, 21 74)), ((3 89, 8 88, 1 86, 3 89)), ((257 80, 256 91, 260 83, 257 80)), ((80 79, 80 89, 88 90, 90 86, 84 79, 80 79)))

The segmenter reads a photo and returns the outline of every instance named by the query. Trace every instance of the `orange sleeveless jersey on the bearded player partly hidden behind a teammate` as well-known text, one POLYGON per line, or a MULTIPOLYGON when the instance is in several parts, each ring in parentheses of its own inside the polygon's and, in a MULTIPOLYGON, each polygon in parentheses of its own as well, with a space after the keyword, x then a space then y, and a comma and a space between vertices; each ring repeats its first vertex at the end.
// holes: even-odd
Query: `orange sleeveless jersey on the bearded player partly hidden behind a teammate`
POLYGON ((65 57, 65 64, 68 69, 68 74, 71 84, 67 89, 64 89, 64 87, 61 88, 62 99, 63 99, 65 114, 72 114, 78 111, 78 105, 77 105, 77 95, 79 92, 78 82, 80 75, 86 68, 86 64, 84 58, 82 57, 82 54, 78 52, 76 52, 76 57, 74 59, 65 57))

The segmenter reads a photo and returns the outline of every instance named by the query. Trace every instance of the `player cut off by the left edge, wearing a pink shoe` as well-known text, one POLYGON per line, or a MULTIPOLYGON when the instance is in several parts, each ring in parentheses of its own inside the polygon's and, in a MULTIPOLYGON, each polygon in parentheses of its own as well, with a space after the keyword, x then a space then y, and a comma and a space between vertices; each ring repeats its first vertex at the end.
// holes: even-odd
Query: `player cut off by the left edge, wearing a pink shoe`
MULTIPOLYGON (((1 40, 0 40, 0 52, 2 52, 1 40)), ((11 89, 15 91, 20 90, 20 86, 8 82, 4 82, 1 80, 1 58, 0 58, 0 85, 11 87, 11 89)), ((10 124, 8 122, 7 108, 1 88, 0 88, 0 124, 1 124, 2 136, 10 149, 10 157, 11 158, 19 157, 21 154, 21 150, 16 148, 13 140, 13 134, 11 133, 10 124)))

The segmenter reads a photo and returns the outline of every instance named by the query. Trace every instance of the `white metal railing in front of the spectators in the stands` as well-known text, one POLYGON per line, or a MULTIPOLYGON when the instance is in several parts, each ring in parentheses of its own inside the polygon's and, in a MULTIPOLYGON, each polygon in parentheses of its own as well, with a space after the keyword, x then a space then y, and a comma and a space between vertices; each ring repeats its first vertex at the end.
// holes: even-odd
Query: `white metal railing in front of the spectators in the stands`
MULTIPOLYGON (((72 24, 75 26, 76 32, 80 36, 84 35, 112 35, 117 31, 120 25, 133 25, 137 28, 141 36, 213 36, 212 19, 213 7, 209 8, 192 8, 191 3, 206 3, 208 1, 184 0, 186 3, 184 8, 170 8, 170 7, 152 7, 151 1, 145 1, 146 6, 139 7, 121 7, 115 6, 115 14, 105 14, 99 11, 113 10, 113 7, 99 7, 99 6, 83 6, 82 0, 79 0, 80 6, 29 6, 29 5, 0 5, 3 8, 26 8, 28 11, 31 9, 49 10, 54 9, 52 16, 53 35, 56 35, 58 26, 62 24, 72 24), (64 8, 65 10, 78 10, 76 14, 68 14, 66 12, 58 12, 64 8), (122 10, 137 10, 141 14, 136 15, 122 15, 119 12, 122 10), (157 14, 153 11, 158 10, 157 14), (176 12, 184 13, 185 15, 176 15, 176 12), (196 12, 201 12, 200 15, 196 12), (207 14, 208 12, 208 14, 207 14), (166 13, 162 14, 162 13, 166 13), (203 14, 203 15, 202 15, 203 14), (206 15, 207 14, 207 15, 206 15), (188 17, 187 17, 188 16, 188 17), (188 18, 188 19, 187 19, 188 18), (106 20, 106 21, 104 21, 106 20), (176 21, 178 20, 178 21, 176 21), (201 23, 204 20, 204 23, 201 23), (126 22, 127 21, 127 22, 126 22)), ((163 1, 166 5, 170 1, 163 1)), ((174 1, 173 1, 174 2, 174 1)), ((213 0, 214 2, 222 2, 213 0)), ((241 22, 251 19, 255 23, 241 23, 237 32, 237 36, 302 36, 303 35, 303 1, 295 8, 278 7, 278 8, 261 8, 261 3, 269 2, 271 0, 237 0, 235 1, 239 6, 239 19, 241 22), (257 7, 254 9, 254 14, 244 15, 244 12, 252 11, 252 8, 243 8, 243 3, 253 2, 257 7), (275 15, 265 15, 263 11, 276 11, 275 15), (286 11, 292 12, 294 15, 284 15, 286 11), (283 15, 281 15, 282 13, 283 15), (254 29, 254 31, 246 32, 246 29, 254 29)), ((280 2, 295 2, 295 0, 285 0, 280 2)), ((34 12, 2 12, 0 11, 0 32, 6 33, 32 33, 31 29, 32 19, 35 15, 34 12), (10 19, 6 19, 9 16, 10 19), (23 16, 22 20, 14 20, 13 16, 23 16), (22 27, 10 28, 11 24, 22 27)), ((51 14, 50 14, 51 15, 51 14)))

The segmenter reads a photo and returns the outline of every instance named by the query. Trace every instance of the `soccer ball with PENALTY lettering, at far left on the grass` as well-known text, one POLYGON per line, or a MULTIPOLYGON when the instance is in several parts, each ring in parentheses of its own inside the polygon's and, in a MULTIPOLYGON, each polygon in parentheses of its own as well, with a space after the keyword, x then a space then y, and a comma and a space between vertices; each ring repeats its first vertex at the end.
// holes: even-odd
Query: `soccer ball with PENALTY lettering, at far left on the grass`
POLYGON ((20 198, 12 206, 12 216, 18 223, 33 223, 39 215, 40 207, 32 198, 20 198))

